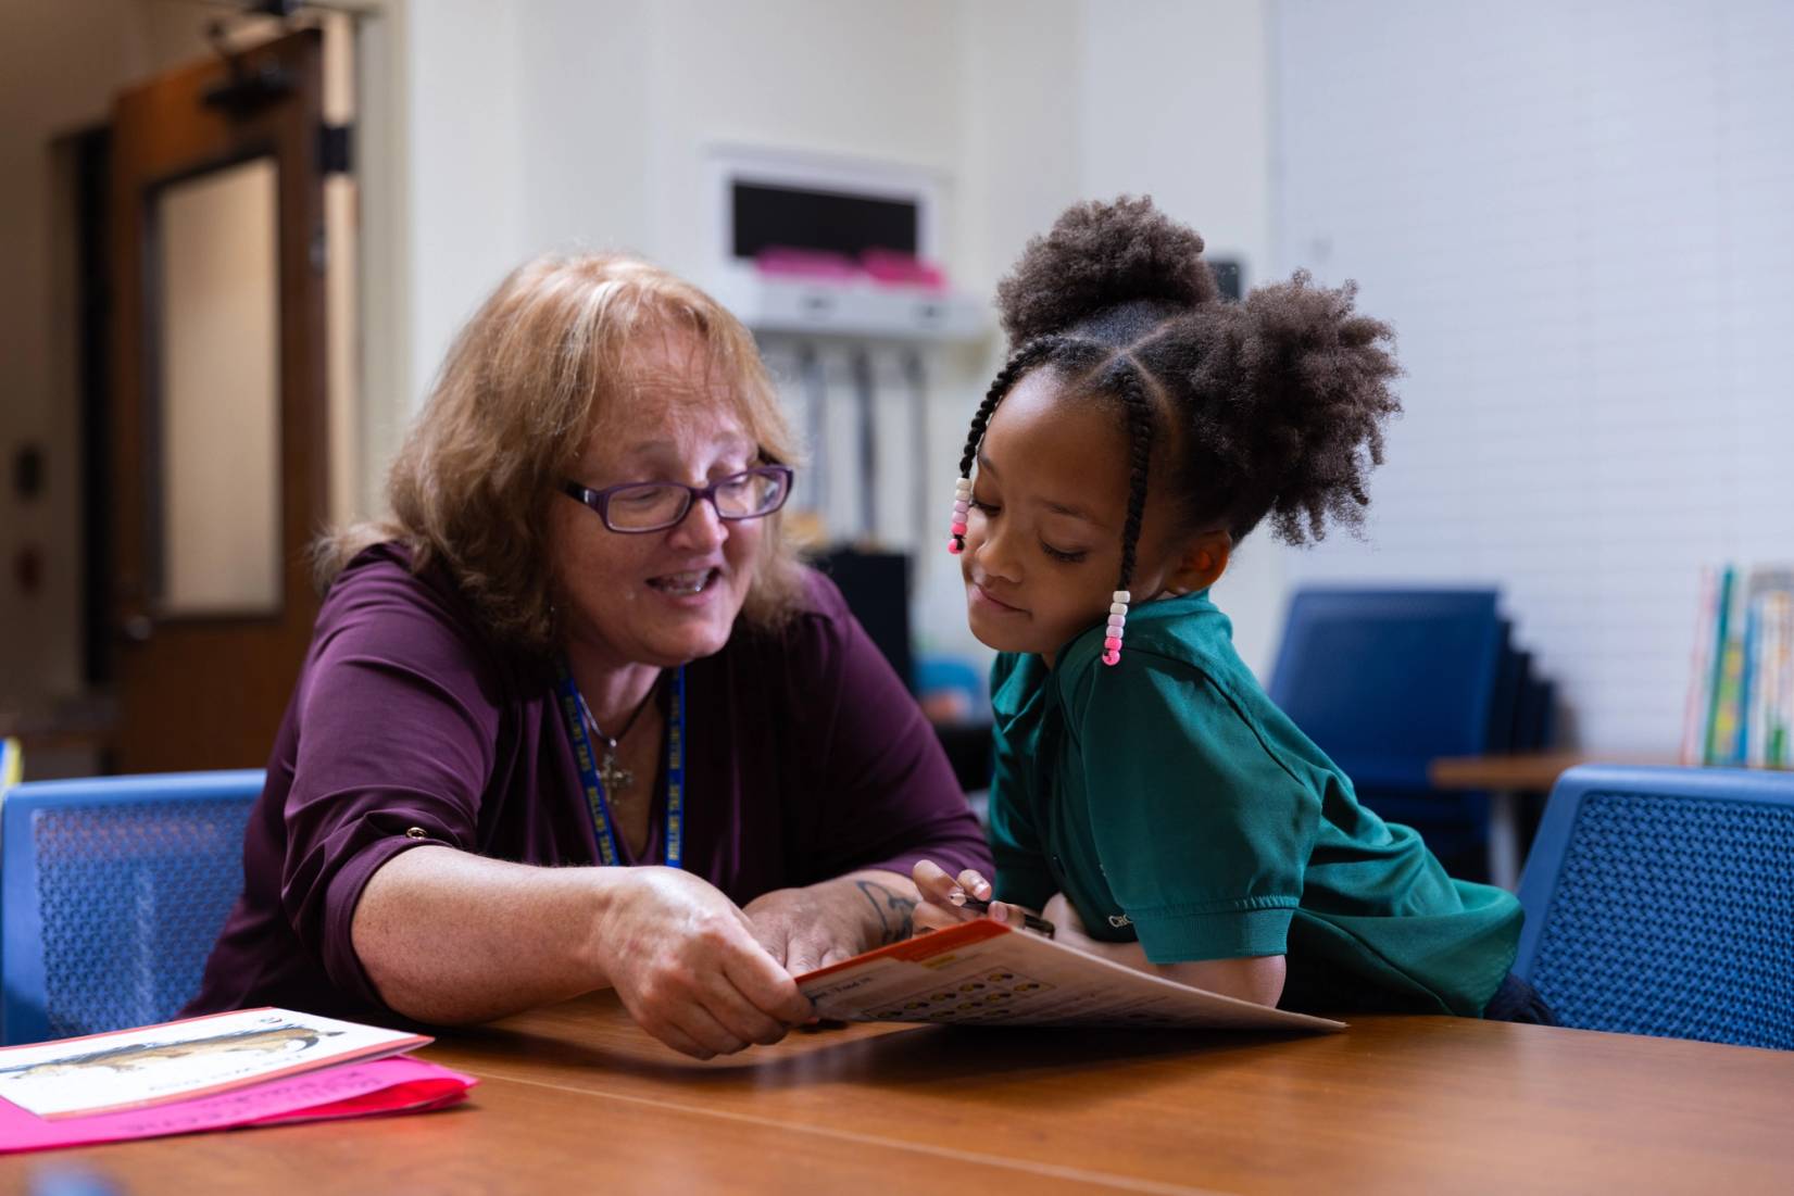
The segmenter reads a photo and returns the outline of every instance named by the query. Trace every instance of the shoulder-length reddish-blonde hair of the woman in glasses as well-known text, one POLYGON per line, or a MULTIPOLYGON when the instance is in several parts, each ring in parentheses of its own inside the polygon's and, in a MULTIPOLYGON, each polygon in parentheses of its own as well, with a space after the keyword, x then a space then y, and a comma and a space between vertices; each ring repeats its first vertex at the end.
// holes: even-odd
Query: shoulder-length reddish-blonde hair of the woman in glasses
MULTIPOLYGON (((447 567, 497 638, 553 651, 547 507, 592 429, 630 402, 628 350, 657 330, 696 334, 761 455, 795 464, 753 337, 716 299, 631 256, 540 256, 499 283, 448 350, 388 473, 391 520, 312 547, 319 588, 362 549, 398 540, 414 574, 447 567)), ((802 574, 782 518, 768 522, 743 617, 777 628, 797 606, 802 574)))

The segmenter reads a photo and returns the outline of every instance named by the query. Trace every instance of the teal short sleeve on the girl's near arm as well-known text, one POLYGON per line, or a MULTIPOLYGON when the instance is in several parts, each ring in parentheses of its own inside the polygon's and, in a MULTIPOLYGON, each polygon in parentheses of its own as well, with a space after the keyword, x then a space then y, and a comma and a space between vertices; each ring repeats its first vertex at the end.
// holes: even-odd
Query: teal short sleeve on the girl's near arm
POLYGON ((1319 794, 1191 663, 1130 646, 1066 681, 1103 877, 1146 958, 1285 954, 1319 794))

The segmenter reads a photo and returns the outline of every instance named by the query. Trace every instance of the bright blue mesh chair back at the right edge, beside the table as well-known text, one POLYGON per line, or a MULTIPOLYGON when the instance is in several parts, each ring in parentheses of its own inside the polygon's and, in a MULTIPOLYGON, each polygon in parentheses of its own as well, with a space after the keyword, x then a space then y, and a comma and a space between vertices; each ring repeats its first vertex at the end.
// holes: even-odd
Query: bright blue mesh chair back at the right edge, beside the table
POLYGON ((1520 902, 1564 1026, 1794 1049, 1794 773, 1570 769, 1520 902))

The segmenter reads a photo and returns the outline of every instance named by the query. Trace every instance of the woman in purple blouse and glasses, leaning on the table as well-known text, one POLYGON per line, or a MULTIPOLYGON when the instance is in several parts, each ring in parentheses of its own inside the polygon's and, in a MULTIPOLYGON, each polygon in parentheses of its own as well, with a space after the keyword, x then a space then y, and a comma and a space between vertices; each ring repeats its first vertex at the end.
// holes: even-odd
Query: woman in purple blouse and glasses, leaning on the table
POLYGON ((511 274, 393 466, 393 524, 319 547, 188 1011, 443 1024, 610 986, 709 1058, 806 1022, 793 975, 906 936, 915 861, 988 866, 910 696, 780 534, 791 459, 703 292, 617 256, 511 274))

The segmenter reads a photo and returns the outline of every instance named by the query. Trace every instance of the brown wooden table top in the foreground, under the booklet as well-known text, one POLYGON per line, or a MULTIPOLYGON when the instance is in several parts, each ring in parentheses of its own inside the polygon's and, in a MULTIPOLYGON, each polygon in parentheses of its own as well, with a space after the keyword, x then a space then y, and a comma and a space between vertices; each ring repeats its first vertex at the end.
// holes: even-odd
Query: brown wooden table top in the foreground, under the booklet
POLYGON ((854 1026, 696 1063, 592 995, 422 1054, 481 1078, 465 1106, 0 1160, 0 1191, 1794 1191, 1794 1053, 1537 1026, 854 1026))

